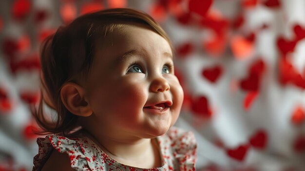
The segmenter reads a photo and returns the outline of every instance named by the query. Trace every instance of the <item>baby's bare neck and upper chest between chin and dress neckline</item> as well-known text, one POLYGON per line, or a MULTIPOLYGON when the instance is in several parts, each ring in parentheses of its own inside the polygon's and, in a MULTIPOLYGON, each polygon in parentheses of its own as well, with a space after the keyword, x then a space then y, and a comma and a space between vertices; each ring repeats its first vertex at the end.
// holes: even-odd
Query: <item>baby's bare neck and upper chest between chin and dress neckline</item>
POLYGON ((119 163, 139 168, 161 166, 158 144, 155 139, 138 137, 117 139, 86 131, 96 145, 119 163))

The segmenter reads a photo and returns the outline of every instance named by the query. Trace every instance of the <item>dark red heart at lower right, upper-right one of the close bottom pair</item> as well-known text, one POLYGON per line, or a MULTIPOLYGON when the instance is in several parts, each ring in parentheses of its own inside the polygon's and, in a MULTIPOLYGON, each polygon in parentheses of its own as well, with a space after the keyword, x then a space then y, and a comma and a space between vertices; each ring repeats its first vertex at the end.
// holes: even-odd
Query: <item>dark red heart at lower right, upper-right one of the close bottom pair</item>
POLYGON ((257 149, 265 149, 267 145, 267 133, 264 130, 258 130, 250 137, 250 144, 257 149))

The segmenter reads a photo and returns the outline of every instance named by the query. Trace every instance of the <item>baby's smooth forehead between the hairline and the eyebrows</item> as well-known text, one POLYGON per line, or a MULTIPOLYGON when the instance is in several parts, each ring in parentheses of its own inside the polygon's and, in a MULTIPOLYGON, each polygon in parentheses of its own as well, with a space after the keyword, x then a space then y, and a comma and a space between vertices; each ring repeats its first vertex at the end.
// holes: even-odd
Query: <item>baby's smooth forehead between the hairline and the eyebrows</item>
POLYGON ((169 42, 143 24, 124 24, 114 29, 97 42, 95 50, 96 60, 115 60, 134 50, 152 56, 172 56, 169 42))

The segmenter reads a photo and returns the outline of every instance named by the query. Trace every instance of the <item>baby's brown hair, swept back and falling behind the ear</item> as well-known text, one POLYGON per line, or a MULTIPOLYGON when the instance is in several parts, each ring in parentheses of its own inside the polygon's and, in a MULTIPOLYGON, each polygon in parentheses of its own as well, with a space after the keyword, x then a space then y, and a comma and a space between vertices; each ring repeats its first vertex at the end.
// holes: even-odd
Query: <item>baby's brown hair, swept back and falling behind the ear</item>
MULTIPOLYGON (((46 38, 40 52, 41 98, 33 114, 42 128, 40 134, 67 134, 77 125, 77 116, 68 111, 60 98, 61 87, 67 82, 89 74, 95 52, 95 42, 119 28, 123 23, 141 23, 172 43, 161 26, 144 12, 127 8, 106 9, 78 17, 54 35, 46 38), (57 112, 56 121, 48 121, 43 105, 57 112)), ((172 48, 173 51, 173 48, 172 48)))

